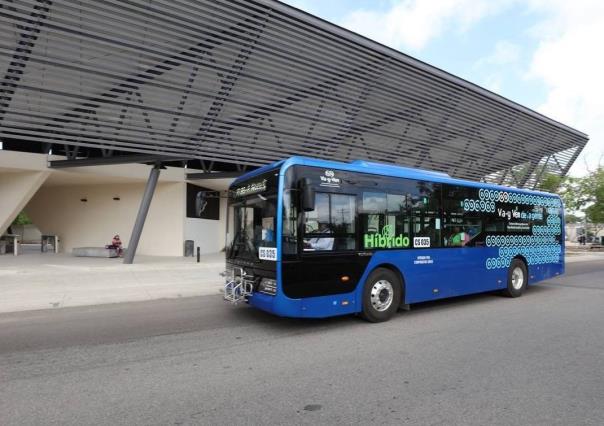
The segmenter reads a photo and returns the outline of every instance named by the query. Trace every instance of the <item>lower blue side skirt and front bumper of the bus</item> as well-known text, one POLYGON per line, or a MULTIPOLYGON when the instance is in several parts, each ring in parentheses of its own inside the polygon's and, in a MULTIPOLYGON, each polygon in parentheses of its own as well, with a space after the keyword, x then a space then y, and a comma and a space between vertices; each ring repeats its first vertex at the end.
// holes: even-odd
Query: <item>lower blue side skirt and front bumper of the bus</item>
MULTIPOLYGON (((249 303, 264 311, 285 317, 325 318, 358 313, 362 310, 363 283, 375 268, 395 267, 405 281, 405 301, 412 304, 448 297, 503 290, 507 286, 507 268, 487 270, 484 262, 497 248, 461 248, 400 250, 376 252, 352 293, 304 299, 290 299, 283 294, 278 280, 277 296, 255 293, 249 303), (473 253, 461 253, 471 250, 473 253), (455 253, 460 252, 460 253, 455 253), (418 260, 418 256, 422 259, 418 260), (426 262, 430 257, 433 263, 426 262), (473 259, 471 264, 463 257, 473 259), (480 262, 482 260, 482 262, 480 262)), ((529 284, 564 273, 564 263, 529 265, 529 284)))

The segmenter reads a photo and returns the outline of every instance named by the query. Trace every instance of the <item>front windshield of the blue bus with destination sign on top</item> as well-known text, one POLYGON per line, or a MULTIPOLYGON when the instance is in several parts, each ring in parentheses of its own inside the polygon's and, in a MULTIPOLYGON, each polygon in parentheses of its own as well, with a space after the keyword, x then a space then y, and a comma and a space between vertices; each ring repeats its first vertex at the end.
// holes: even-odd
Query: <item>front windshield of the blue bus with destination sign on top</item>
POLYGON ((260 261, 260 247, 276 247, 277 188, 272 179, 231 189, 227 223, 227 258, 260 261))

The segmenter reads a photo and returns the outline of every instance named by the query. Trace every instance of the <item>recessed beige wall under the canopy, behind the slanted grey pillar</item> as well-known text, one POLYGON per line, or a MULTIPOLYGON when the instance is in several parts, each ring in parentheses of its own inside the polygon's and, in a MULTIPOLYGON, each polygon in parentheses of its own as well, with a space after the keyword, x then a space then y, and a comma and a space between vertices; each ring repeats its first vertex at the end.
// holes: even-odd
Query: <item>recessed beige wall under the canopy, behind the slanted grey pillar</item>
MULTIPOLYGON (((127 247, 144 187, 144 183, 42 186, 25 212, 42 233, 59 236, 61 251, 102 247, 116 233, 127 247)), ((184 217, 184 182, 158 183, 137 254, 182 256, 184 217)))

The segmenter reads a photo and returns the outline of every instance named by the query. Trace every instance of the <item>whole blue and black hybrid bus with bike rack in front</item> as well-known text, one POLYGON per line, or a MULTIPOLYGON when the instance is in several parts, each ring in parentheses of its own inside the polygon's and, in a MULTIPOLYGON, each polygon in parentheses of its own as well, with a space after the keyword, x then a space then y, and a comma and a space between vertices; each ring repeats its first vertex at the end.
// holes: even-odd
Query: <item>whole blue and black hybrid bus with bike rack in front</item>
POLYGON ((371 322, 564 273, 564 213, 544 192, 368 161, 291 157, 229 190, 225 299, 286 317, 371 322))

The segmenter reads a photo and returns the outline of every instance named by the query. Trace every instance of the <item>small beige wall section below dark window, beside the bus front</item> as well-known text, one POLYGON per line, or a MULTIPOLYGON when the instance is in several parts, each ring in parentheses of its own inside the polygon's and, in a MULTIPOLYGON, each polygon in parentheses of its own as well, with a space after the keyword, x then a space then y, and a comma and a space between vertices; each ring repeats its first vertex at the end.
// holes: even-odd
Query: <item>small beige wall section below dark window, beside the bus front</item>
POLYGON ((185 217, 185 240, 193 240, 201 254, 216 253, 224 248, 226 233, 226 199, 220 199, 220 220, 185 217))

